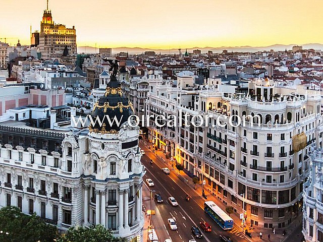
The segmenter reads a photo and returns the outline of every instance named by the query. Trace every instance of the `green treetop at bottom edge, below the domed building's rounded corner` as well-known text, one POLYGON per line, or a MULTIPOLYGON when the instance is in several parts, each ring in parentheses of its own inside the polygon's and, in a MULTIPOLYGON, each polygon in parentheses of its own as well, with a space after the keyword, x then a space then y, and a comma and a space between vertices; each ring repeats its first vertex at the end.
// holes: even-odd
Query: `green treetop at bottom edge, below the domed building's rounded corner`
POLYGON ((125 238, 115 238, 110 230, 101 224, 91 227, 71 227, 57 242, 126 242, 125 238))

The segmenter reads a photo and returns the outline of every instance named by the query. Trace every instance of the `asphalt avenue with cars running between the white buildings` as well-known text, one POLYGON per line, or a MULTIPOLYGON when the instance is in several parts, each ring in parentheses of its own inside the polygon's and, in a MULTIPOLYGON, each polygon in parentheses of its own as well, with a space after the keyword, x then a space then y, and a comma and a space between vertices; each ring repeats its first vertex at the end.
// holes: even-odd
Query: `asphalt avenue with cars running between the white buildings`
MULTIPOLYGON (((171 170, 169 175, 165 174, 161 168, 167 167, 166 164, 157 158, 154 153, 150 152, 143 145, 141 145, 141 149, 146 153, 141 158, 141 162, 147 170, 144 176, 144 182, 146 178, 151 178, 154 181, 154 187, 150 187, 150 189, 155 190, 155 193, 159 193, 163 197, 164 203, 158 204, 157 208, 165 224, 165 229, 173 242, 188 242, 189 239, 193 239, 191 226, 199 226, 200 221, 209 223, 212 227, 212 231, 207 233, 202 232, 203 238, 196 240, 206 240, 207 242, 221 241, 219 235, 222 234, 230 236, 233 241, 247 241, 235 228, 230 231, 224 231, 220 228, 204 213, 203 205, 205 200, 200 195, 196 194, 190 185, 181 180, 178 175, 175 174, 175 171, 171 170), (152 165, 150 164, 150 159, 154 161, 152 165), (187 194, 191 197, 190 201, 185 200, 187 194), (179 206, 173 207, 168 202, 169 197, 174 197, 179 206), (177 222, 177 231, 172 231, 168 226, 167 219, 172 217, 175 218, 177 222)), ((158 234, 158 231, 156 232, 158 234)), ((163 239, 160 239, 160 241, 164 242, 163 239)))

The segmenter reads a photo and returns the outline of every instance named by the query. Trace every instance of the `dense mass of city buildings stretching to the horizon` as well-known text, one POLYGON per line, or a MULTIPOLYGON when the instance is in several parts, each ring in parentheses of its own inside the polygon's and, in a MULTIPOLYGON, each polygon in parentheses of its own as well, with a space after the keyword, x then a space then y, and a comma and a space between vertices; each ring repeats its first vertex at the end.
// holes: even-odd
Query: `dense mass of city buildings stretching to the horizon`
POLYGON ((101 223, 143 241, 140 134, 247 223, 283 228, 303 212, 306 241, 323 241, 321 50, 78 54, 75 27, 55 24, 47 7, 30 46, 0 43, 0 69, 0 206, 62 231, 101 223), (150 117, 140 130, 71 122, 114 100, 103 57, 119 60, 125 103, 150 117), (182 124, 160 127, 156 115, 182 124))

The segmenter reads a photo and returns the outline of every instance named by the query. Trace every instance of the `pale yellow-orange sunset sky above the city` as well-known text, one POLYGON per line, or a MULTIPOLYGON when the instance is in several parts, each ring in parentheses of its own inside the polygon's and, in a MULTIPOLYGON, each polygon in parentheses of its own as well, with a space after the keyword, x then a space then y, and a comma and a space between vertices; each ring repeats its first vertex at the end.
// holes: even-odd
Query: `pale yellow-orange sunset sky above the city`
MULTIPOLYGON (((46 0, 1 0, 0 38, 30 44, 46 0)), ((321 0, 49 0, 78 46, 190 48, 323 43, 321 0)), ((3 39, 0 41, 4 41, 3 39)))

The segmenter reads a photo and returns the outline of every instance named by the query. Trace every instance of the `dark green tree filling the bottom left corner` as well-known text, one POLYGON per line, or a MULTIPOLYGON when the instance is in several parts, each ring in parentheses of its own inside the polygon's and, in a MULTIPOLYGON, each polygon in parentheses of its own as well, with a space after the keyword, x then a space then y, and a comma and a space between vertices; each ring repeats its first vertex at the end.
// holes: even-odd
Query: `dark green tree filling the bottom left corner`
POLYGON ((57 237, 57 227, 45 223, 36 214, 23 214, 17 207, 0 209, 0 241, 52 242, 57 237), (7 234, 8 233, 8 234, 7 234))

